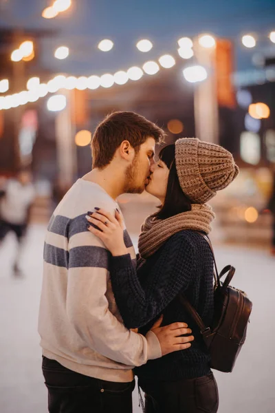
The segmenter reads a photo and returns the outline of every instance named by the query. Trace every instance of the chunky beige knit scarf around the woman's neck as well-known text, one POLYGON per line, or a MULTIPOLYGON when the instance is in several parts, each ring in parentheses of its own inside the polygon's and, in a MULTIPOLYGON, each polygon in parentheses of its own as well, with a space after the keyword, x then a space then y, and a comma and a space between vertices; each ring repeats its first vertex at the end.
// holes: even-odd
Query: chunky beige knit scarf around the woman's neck
POLYGON ((149 215, 142 225, 142 233, 138 240, 138 249, 142 258, 153 255, 175 233, 184 229, 193 229, 210 233, 211 222, 215 215, 208 204, 192 204, 191 211, 186 211, 159 220, 154 215, 149 215))

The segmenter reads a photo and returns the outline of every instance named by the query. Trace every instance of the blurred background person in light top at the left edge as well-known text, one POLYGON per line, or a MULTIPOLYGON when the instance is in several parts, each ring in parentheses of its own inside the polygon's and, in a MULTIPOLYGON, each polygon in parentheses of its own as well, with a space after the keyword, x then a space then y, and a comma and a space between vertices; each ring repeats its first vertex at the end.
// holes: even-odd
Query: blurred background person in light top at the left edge
POLYGON ((0 191, 0 245, 12 232, 17 238, 17 253, 14 259, 14 275, 20 274, 23 240, 30 222, 30 209, 35 198, 32 175, 28 169, 20 169, 15 178, 2 183, 0 191))

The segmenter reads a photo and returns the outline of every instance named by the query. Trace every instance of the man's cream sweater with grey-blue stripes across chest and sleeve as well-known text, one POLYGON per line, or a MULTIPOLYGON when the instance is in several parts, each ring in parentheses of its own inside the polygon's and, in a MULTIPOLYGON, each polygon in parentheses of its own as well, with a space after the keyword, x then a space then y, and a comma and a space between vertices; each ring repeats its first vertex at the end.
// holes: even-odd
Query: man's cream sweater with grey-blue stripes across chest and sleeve
MULTIPOLYGON (((45 237, 39 334, 43 355, 107 381, 133 379, 133 366, 161 357, 153 332, 127 330, 109 277, 110 253, 87 230, 87 211, 114 214, 118 204, 94 182, 78 179, 58 204, 45 237)), ((135 260, 129 234, 124 242, 135 260)))

